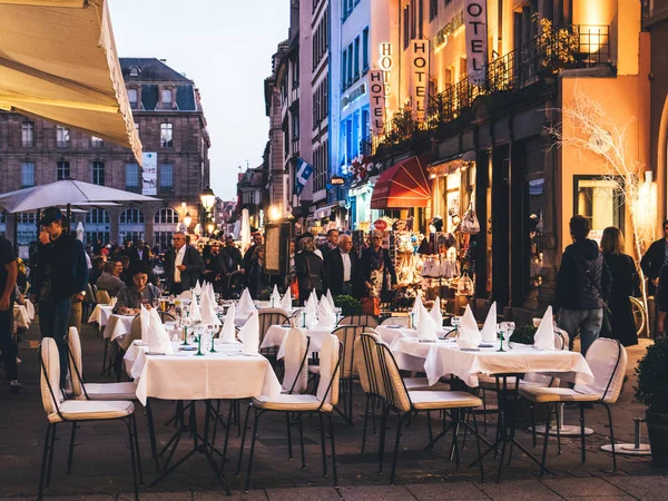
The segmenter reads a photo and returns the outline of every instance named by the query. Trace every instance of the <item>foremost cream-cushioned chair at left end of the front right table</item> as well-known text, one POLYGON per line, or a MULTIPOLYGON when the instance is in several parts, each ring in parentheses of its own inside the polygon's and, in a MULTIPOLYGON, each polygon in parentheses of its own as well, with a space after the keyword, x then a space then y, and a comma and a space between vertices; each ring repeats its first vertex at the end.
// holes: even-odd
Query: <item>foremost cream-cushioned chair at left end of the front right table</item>
POLYGON ((478 423, 475 414, 472 412, 474 407, 482 405, 482 401, 466 392, 452 391, 409 391, 403 383, 399 366, 394 360, 394 355, 385 343, 376 343, 379 354, 379 363, 383 374, 383 397, 385 399, 385 412, 383 413, 383 424, 381 425, 381 471, 383 468, 383 456, 385 449, 385 431, 387 429, 387 415, 390 411, 399 414, 399 423, 396 425, 396 439, 394 441, 394 454, 392 458, 392 473, 390 483, 394 483, 394 472, 396 471, 396 458, 399 455, 399 441, 401 439, 401 429, 405 420, 412 413, 430 412, 430 411, 449 411, 452 415, 452 441, 453 452, 456 465, 459 466, 459 444, 456 435, 460 425, 466 426, 466 414, 473 419, 473 431, 478 445, 478 462, 480 463, 480 478, 484 481, 484 472, 482 469, 482 460, 480 454, 480 436, 478 434, 478 423))

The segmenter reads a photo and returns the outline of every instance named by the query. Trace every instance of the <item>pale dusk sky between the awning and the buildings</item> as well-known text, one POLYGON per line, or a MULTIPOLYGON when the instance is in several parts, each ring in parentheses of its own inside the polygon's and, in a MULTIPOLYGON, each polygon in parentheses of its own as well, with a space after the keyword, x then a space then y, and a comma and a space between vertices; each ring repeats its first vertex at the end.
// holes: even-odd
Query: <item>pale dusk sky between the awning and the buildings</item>
POLYGON ((236 196, 238 166, 262 163, 264 79, 287 38, 289 0, 110 0, 119 57, 155 57, 193 79, 212 137, 212 188, 236 196))

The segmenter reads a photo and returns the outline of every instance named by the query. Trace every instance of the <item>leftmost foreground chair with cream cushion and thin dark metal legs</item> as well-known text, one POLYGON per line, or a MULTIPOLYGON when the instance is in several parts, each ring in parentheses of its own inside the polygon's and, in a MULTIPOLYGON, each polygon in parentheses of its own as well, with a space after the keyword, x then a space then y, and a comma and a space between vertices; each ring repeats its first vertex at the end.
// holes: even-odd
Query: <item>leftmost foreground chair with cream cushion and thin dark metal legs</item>
MULTIPOLYGON (((58 347, 52 337, 43 337, 38 350, 40 361, 40 393, 41 401, 47 413, 49 424, 47 426, 47 436, 45 440, 45 450, 41 462, 41 472, 39 478, 38 500, 42 499, 43 488, 49 487, 51 481, 51 466, 53 463, 53 450, 56 446, 57 428, 61 423, 82 423, 119 420, 122 421, 128 430, 128 440, 130 445, 130 462, 132 468, 132 483, 135 488, 135 499, 139 499, 139 488, 137 483, 137 440, 134 430, 135 405, 130 401, 84 401, 65 400, 59 386, 60 381, 60 361, 58 347)), ((72 436, 73 436, 72 428, 72 436)), ((73 450, 70 446, 67 466, 71 471, 73 450)))

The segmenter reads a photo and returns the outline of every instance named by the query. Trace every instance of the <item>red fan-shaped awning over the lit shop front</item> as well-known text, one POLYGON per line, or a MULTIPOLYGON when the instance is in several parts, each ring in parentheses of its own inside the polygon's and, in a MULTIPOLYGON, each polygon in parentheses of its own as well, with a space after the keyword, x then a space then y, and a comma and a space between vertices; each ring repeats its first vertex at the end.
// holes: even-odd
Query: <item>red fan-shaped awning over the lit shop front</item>
POLYGON ((379 178, 371 196, 372 209, 426 207, 431 189, 418 157, 389 168, 379 178))

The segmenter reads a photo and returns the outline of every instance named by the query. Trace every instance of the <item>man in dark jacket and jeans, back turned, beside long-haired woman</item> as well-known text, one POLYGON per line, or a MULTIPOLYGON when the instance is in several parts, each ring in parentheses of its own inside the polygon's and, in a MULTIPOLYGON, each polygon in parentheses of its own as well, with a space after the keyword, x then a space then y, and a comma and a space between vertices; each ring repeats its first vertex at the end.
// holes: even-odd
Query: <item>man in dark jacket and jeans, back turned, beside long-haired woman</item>
POLYGON ((552 306, 553 313, 559 313, 559 327, 568 332, 571 350, 580 334, 580 351, 586 355, 601 331, 612 277, 597 243, 587 238, 589 220, 580 215, 571 217, 570 233, 573 243, 561 256, 552 306))

